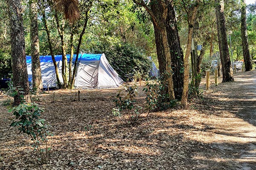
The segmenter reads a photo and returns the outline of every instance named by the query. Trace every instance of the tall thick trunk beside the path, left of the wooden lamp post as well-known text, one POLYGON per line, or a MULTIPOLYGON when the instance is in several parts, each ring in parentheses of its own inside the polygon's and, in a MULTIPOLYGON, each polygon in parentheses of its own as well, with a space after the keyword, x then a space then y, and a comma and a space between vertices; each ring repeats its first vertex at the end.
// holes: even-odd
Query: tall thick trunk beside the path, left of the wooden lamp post
POLYGON ((226 20, 224 16, 224 1, 215 0, 216 19, 218 30, 218 42, 222 67, 222 82, 231 82, 233 79, 233 70, 230 62, 230 54, 227 45, 226 20))

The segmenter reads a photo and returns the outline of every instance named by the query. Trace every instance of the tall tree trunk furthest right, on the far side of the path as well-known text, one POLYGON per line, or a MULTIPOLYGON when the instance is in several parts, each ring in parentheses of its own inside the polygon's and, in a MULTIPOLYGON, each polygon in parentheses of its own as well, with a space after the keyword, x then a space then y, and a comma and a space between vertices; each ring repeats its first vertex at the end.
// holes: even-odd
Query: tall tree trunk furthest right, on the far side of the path
POLYGON ((250 71, 253 69, 253 64, 250 59, 250 51, 247 37, 247 24, 246 24, 246 4, 245 0, 241 0, 241 38, 243 45, 243 54, 244 54, 244 66, 245 71, 250 71))

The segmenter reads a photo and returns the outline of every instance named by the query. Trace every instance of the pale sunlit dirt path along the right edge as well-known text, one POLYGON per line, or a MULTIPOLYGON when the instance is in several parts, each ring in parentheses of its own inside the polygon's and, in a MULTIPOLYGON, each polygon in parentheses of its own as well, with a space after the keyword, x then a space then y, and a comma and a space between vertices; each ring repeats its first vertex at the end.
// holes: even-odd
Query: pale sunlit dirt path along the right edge
MULTIPOLYGON (((256 170, 256 71, 239 73, 235 82, 221 83, 213 87, 213 95, 225 104, 219 109, 235 115, 235 119, 226 119, 230 126, 216 132, 219 142, 234 142, 241 148, 237 170, 256 170)), ((220 145, 221 146, 221 145, 220 145)), ((222 144, 224 149, 228 149, 222 144)))

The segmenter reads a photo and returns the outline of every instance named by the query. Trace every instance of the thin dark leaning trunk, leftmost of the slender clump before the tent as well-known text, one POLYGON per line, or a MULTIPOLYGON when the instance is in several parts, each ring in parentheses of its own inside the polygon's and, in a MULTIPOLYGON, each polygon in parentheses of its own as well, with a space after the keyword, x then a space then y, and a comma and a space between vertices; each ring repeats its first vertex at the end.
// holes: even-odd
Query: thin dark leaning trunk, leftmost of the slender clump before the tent
POLYGON ((48 44, 49 44, 50 54, 52 56, 52 62, 53 62, 54 68, 55 68, 57 84, 59 86, 59 85, 61 85, 61 82, 60 82, 60 78, 59 78, 59 74, 58 74, 58 65, 57 65, 57 62, 56 62, 54 54, 53 54, 52 40, 51 40, 51 37, 50 37, 50 30, 49 30, 47 20, 46 20, 46 16, 45 16, 45 8, 42 9, 41 13, 42 13, 42 16, 43 16, 42 20, 43 20, 43 23, 44 23, 44 27, 45 27, 45 30, 46 30, 46 33, 47 33, 47 40, 48 40, 48 44))

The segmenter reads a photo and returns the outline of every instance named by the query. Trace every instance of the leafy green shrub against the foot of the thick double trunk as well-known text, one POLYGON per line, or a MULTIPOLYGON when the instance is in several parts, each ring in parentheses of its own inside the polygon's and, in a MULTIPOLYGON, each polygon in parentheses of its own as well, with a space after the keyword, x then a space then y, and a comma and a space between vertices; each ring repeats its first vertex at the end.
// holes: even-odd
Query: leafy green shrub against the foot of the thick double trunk
POLYGON ((167 85, 163 81, 163 75, 160 80, 147 81, 143 91, 146 93, 146 101, 148 113, 151 111, 163 111, 168 108, 172 108, 176 104, 176 100, 169 99, 169 93, 167 91, 167 85))

